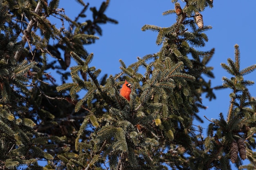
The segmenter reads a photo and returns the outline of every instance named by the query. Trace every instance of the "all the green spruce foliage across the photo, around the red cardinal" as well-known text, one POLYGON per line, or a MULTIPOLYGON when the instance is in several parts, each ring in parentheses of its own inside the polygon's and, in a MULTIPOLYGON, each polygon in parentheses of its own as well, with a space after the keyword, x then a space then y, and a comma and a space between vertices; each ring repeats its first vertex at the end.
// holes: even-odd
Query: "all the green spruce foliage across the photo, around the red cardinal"
POLYGON ((0 1, 0 169, 231 170, 231 163, 256 168, 256 99, 247 88, 254 82, 243 77, 256 65, 240 69, 236 44, 234 61, 221 64, 231 77, 217 87, 205 78, 214 78, 207 66, 214 49, 198 49, 208 41, 204 32, 211 26, 202 16, 212 0, 172 0, 173 9, 163 15, 174 14, 176 22, 141 28, 158 33, 160 51, 129 66, 119 60, 120 73, 101 79, 85 45, 102 34, 99 24, 117 21, 104 13, 109 0, 98 10, 90 7, 92 20, 85 20, 89 4, 77 2, 82 10, 72 20, 58 0, 0 1), (126 80, 132 84, 129 100, 120 95, 126 80), (202 127, 193 124, 203 122, 202 96, 215 99, 213 90, 220 88, 231 89, 227 119, 222 113, 206 117, 203 137, 202 127), (248 165, 242 165, 245 159, 248 165))

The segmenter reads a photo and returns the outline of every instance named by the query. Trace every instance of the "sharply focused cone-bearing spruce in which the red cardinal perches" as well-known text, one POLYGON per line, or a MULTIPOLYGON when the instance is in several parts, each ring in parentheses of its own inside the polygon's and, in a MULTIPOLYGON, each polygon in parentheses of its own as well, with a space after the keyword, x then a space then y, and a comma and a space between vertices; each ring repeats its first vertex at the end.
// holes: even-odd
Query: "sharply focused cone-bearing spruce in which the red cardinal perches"
POLYGON ((104 86, 97 78, 100 70, 88 65, 93 54, 82 60, 71 53, 78 64, 71 71, 73 83, 58 86, 57 90, 70 89, 73 97, 76 91, 88 91, 75 106, 75 111, 86 108, 88 114, 76 138, 79 159, 62 157, 67 165, 85 169, 108 169, 109 163, 110 169, 118 170, 229 170, 231 163, 238 167, 240 159, 245 159, 250 148, 245 148, 246 140, 254 134, 254 130, 248 130, 254 127, 248 127, 247 120, 254 115, 251 107, 255 102, 246 88, 253 82, 243 76, 254 71, 256 65, 240 70, 236 45, 235 61, 229 59, 229 65, 222 64, 234 77, 223 77, 222 86, 211 87, 202 75, 214 77, 212 67, 206 66, 214 49, 198 51, 195 47, 203 47, 208 40, 204 31, 211 27, 203 25, 199 12, 213 7, 212 1, 185 1, 183 9, 173 2, 175 9, 163 14, 176 14, 175 24, 168 28, 142 27, 142 31, 158 32, 156 43, 162 45, 161 50, 138 58, 130 66, 120 60, 121 72, 110 75, 104 86), (140 67, 145 68, 144 74, 138 72, 140 67), (79 70, 88 73, 88 81, 79 78, 79 70), (130 101, 119 95, 118 87, 124 79, 133 84, 130 101), (220 113, 220 119, 210 120, 207 137, 202 138, 202 128, 199 126, 197 133, 192 125, 194 119, 202 121, 197 115, 199 108, 205 108, 201 96, 206 93, 211 100, 216 97, 213 89, 220 88, 233 91, 228 119, 220 113), (245 127, 248 131, 243 132, 245 127), (86 134, 88 128, 93 129, 90 135, 86 134))

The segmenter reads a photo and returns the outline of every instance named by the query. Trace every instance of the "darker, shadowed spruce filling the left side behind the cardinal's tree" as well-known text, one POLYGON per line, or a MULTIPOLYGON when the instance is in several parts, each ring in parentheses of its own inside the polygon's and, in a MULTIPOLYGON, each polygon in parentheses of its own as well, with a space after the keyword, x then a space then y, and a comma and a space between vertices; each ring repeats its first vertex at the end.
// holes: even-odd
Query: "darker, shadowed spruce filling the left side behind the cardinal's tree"
POLYGON ((50 72, 55 70, 66 82, 70 51, 85 59, 83 45, 99 38, 94 35, 102 34, 99 24, 117 23, 104 13, 108 0, 99 10, 77 2, 82 10, 72 20, 58 7, 59 0, 0 1, 0 169, 43 169, 38 160, 56 165, 57 153, 72 155, 85 116, 73 112, 67 93, 56 92, 50 72), (88 9, 92 20, 86 20, 88 9), (62 27, 51 23, 51 17, 62 27))

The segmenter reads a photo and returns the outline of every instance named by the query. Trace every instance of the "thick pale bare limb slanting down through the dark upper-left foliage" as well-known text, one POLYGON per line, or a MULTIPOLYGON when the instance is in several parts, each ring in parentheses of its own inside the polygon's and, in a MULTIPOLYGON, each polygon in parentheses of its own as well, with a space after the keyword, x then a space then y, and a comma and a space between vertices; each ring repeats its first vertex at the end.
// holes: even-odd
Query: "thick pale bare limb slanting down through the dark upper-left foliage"
MULTIPOLYGON (((41 1, 38 0, 34 13, 37 14, 40 11, 40 7, 41 7, 41 1)), ((14 55, 14 58, 15 58, 16 61, 18 61, 20 59, 20 56, 22 54, 23 48, 24 48, 26 40, 27 40, 26 38, 31 33, 32 27, 33 27, 35 22, 36 22, 36 20, 34 20, 34 18, 32 18, 29 21, 29 24, 27 25, 27 29, 24 31, 24 34, 23 34, 22 39, 21 39, 21 41, 22 41, 22 49, 20 51, 17 51, 15 53, 15 55, 14 55)))

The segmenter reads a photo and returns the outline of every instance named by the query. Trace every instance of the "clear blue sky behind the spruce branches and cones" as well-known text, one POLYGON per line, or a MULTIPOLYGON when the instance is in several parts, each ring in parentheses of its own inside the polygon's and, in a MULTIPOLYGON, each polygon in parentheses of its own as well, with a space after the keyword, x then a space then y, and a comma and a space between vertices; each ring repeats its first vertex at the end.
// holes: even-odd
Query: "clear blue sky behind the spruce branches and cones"
MULTIPOLYGON (((99 6, 102 0, 88 0, 90 7, 99 6)), ((181 6, 184 3, 179 1, 181 6)), ((256 64, 256 1, 241 0, 214 0, 213 8, 207 8, 201 12, 204 25, 211 25, 213 29, 206 31, 209 42, 206 46, 198 50, 210 50, 215 48, 208 66, 213 66, 215 79, 212 85, 222 84, 222 77, 230 77, 220 66, 221 62, 227 63, 227 58, 234 59, 234 45, 240 46, 241 68, 256 64)), ((59 7, 65 9, 65 14, 74 19, 82 7, 74 0, 62 0, 59 7)), ((126 65, 135 62, 137 56, 143 57, 146 54, 156 53, 161 46, 155 44, 156 32, 141 31, 144 24, 153 24, 161 27, 171 26, 176 22, 176 15, 163 16, 162 12, 174 9, 171 0, 110 0, 110 6, 106 15, 119 22, 119 24, 103 24, 103 36, 95 44, 85 46, 89 53, 94 53, 91 66, 101 68, 102 74, 115 75, 120 72, 119 59, 126 65)), ((91 12, 88 10, 88 17, 91 12)), ((87 18, 85 18, 87 19, 87 18)), ((75 64, 74 60, 72 64, 75 64)), ((256 72, 247 75, 245 78, 256 81, 256 72)), ((252 96, 256 96, 255 86, 249 87, 252 96)), ((229 107, 229 89, 215 91, 217 99, 208 102, 203 100, 203 104, 208 106, 207 110, 201 110, 199 115, 203 118, 206 115, 209 119, 218 119, 220 112, 227 115, 229 107)), ((203 118, 204 119, 204 118, 203 118)), ((204 119, 205 127, 209 121, 204 119)), ((195 124, 197 124, 195 122, 195 124)), ((206 129, 205 129, 206 130, 206 129)))

